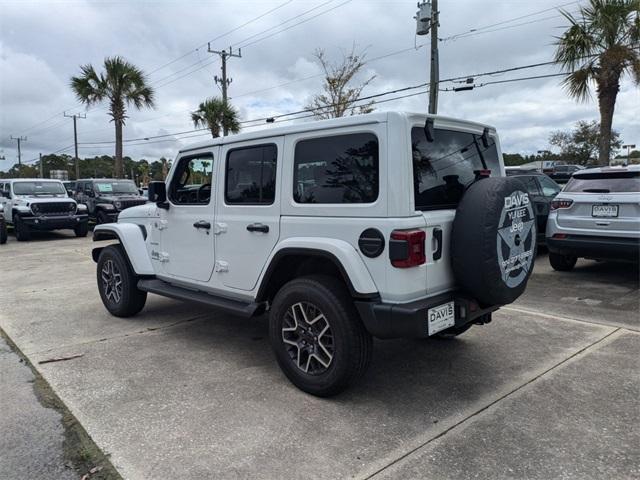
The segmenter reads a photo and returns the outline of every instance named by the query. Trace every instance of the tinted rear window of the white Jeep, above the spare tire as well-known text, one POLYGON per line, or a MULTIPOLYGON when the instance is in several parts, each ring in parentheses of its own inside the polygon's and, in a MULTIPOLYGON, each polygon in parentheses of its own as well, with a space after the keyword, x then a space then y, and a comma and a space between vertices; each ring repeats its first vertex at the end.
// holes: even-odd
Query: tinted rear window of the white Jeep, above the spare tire
POLYGON ((422 127, 411 130, 413 186, 416 210, 456 208, 474 170, 489 169, 500 175, 495 139, 485 147, 482 135, 435 129, 428 142, 422 127), (484 161, 484 163, 483 163, 484 161))

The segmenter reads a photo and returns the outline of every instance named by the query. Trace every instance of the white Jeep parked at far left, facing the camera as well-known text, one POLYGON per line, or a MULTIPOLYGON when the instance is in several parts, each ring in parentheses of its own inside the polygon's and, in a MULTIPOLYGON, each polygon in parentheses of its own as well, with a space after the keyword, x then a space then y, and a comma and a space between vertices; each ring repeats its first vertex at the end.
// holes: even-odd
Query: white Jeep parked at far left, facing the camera
POLYGON ((87 236, 87 209, 68 197, 60 180, 0 179, 0 210, 18 241, 29 240, 33 230, 72 229, 78 237, 87 236))

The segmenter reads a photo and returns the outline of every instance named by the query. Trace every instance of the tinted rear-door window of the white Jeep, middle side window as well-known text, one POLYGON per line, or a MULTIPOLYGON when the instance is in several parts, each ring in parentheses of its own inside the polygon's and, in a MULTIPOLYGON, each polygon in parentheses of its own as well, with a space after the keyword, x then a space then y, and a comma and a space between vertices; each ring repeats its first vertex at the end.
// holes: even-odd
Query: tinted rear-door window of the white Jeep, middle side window
POLYGON ((230 204, 271 205, 276 197, 275 145, 230 150, 225 172, 225 201, 230 204))

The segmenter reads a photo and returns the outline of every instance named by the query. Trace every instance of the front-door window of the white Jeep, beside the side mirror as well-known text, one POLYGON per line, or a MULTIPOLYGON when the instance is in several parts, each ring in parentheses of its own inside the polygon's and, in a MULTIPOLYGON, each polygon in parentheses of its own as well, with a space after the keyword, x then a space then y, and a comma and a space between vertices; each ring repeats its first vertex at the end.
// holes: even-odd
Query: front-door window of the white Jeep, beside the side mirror
POLYGON ((176 205, 208 205, 212 178, 212 154, 181 158, 169 185, 169 200, 176 205))

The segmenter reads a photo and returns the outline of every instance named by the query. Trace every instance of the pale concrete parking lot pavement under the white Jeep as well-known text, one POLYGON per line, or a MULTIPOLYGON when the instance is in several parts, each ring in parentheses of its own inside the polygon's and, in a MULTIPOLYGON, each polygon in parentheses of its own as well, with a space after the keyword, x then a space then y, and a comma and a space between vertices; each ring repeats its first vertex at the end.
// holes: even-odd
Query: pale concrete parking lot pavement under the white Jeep
POLYGON ((491 324, 377 341, 364 381, 320 399, 284 378, 265 319, 155 296, 111 317, 91 246, 10 237, 0 327, 124 478, 640 475, 635 266, 560 273, 540 255, 491 324))

